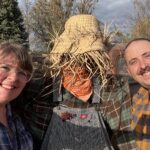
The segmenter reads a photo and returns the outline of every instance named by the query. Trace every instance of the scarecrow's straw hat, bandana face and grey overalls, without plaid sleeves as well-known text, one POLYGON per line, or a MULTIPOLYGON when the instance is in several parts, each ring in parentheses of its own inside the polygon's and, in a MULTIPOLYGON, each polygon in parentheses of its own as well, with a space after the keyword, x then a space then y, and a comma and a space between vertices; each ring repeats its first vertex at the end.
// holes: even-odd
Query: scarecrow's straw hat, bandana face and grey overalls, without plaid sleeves
POLYGON ((111 70, 106 51, 95 16, 75 15, 68 19, 49 54, 54 83, 60 79, 54 101, 61 102, 53 109, 43 150, 113 149, 96 109, 111 70))

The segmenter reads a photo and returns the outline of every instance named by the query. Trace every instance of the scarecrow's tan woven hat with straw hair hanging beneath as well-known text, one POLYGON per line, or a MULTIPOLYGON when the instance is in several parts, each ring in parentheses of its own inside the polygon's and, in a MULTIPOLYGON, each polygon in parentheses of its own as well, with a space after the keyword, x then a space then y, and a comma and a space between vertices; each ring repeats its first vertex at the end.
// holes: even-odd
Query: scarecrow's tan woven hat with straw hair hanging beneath
POLYGON ((111 65, 96 17, 83 14, 70 17, 64 32, 55 39, 49 59, 53 76, 59 75, 64 66, 70 69, 83 66, 90 76, 98 73, 104 81, 111 65))

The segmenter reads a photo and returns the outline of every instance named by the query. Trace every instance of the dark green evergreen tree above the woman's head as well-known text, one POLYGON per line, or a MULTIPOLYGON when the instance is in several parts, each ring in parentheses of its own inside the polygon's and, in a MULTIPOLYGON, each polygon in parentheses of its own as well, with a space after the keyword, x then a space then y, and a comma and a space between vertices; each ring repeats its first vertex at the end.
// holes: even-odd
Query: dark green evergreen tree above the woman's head
POLYGON ((0 40, 13 40, 27 46, 27 37, 17 0, 0 0, 0 40))

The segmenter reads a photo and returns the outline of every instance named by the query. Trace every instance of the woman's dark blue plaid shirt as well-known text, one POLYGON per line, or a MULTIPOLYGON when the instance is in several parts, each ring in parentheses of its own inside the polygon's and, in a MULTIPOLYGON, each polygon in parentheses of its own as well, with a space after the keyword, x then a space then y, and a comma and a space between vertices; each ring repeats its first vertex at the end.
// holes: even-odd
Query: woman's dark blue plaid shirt
POLYGON ((10 130, 0 123, 0 150, 32 150, 31 135, 20 118, 12 115, 10 105, 7 105, 7 119, 10 130))

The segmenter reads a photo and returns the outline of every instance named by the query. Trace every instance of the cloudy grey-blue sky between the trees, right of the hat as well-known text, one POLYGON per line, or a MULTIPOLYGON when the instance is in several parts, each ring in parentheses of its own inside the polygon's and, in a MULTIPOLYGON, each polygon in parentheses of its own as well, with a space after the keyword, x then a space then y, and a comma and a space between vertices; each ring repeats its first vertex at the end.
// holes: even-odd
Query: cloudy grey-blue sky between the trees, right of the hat
MULTIPOLYGON (((22 0, 18 0, 21 5, 22 0)), ((123 32, 128 30, 129 16, 133 12, 133 0, 99 0, 94 15, 103 23, 116 25, 123 32)))

